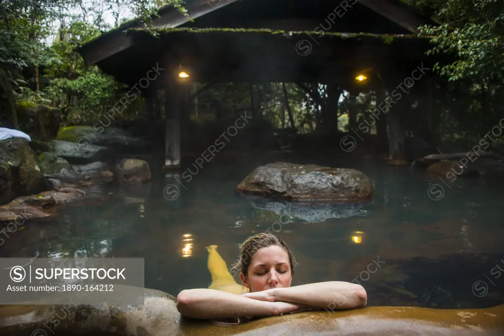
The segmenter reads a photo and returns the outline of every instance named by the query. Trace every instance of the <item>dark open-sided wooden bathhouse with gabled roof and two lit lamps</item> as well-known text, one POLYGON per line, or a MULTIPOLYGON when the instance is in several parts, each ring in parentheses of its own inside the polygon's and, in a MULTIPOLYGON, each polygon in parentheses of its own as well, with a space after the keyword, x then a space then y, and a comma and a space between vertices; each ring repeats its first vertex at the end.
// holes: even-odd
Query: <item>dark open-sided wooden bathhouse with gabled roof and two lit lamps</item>
MULTIPOLYGON (((182 6, 186 15, 166 6, 148 29, 133 20, 78 48, 87 64, 136 86, 147 106, 165 91, 167 170, 180 169, 180 125, 188 120, 185 100, 194 98, 183 94, 188 82, 323 83, 329 96, 335 93, 327 124, 337 123, 341 93, 331 88, 376 90, 385 100, 401 83, 412 89, 406 88, 412 71, 434 62, 425 55, 428 40, 417 35, 417 27, 433 22, 399 0, 186 0, 182 6), (153 68, 156 79, 142 85, 153 68)), ((431 124, 433 75, 424 72, 417 71, 414 89, 424 95, 431 124)), ((387 112, 388 125, 383 117, 377 123, 388 133, 391 163, 404 161, 403 101, 387 112)))

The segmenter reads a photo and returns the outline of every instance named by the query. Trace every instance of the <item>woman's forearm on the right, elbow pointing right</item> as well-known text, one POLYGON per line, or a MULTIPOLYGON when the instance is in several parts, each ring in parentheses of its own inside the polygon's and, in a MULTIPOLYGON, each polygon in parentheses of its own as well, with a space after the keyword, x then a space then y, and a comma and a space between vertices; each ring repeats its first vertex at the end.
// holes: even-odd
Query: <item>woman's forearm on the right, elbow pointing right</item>
POLYGON ((342 281, 275 288, 272 291, 275 301, 292 302, 321 309, 352 309, 365 306, 367 303, 366 291, 362 286, 342 281))

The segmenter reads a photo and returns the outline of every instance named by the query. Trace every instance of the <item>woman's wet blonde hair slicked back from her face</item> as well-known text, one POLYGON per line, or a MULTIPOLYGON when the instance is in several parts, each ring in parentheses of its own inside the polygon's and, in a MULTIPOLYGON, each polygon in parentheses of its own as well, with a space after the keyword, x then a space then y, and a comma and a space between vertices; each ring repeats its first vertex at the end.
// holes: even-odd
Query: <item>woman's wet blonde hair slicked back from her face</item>
POLYGON ((259 233, 248 237, 245 241, 243 241, 238 261, 234 264, 230 271, 241 272, 246 276, 248 267, 250 266, 257 251, 263 247, 269 247, 272 245, 280 246, 287 252, 287 255, 289 256, 291 274, 294 275, 294 266, 297 265, 297 262, 287 244, 273 233, 259 233))

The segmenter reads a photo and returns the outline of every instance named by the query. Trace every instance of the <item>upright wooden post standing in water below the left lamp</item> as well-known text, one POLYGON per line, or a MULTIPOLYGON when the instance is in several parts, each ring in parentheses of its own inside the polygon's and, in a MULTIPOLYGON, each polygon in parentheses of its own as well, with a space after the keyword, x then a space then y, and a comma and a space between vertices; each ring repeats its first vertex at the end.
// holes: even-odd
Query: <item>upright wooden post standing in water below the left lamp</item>
POLYGON ((164 111, 166 118, 165 160, 163 170, 180 169, 181 90, 172 71, 168 71, 164 111))

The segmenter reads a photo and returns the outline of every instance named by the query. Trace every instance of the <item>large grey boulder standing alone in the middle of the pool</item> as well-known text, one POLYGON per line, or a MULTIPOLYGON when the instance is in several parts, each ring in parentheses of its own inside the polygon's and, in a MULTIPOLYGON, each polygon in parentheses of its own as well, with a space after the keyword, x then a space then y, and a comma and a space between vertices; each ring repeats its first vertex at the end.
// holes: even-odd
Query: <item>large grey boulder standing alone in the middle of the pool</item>
POLYGON ((354 169, 275 162, 257 167, 237 190, 288 200, 358 202, 372 198, 373 183, 354 169))

